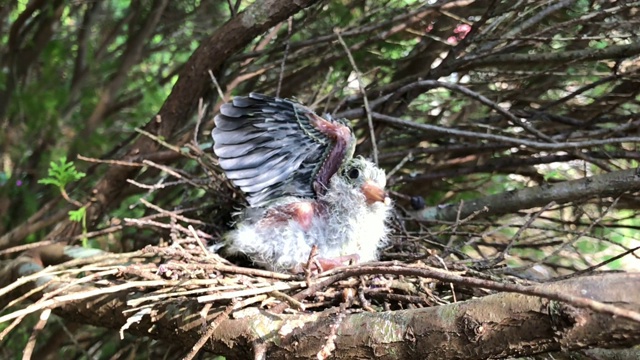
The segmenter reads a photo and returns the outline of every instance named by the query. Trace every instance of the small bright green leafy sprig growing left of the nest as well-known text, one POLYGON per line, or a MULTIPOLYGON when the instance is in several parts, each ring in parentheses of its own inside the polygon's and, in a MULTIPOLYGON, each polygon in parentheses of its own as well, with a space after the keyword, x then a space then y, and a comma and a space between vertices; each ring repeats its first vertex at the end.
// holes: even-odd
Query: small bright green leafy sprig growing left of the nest
POLYGON ((56 186, 65 200, 78 207, 77 210, 69 211, 69 220, 82 224, 82 246, 87 247, 88 239, 84 236, 87 233, 87 208, 72 199, 65 190, 69 183, 82 179, 86 174, 76 170, 73 162, 67 162, 66 156, 61 157, 58 163, 50 162, 48 174, 48 177, 38 180, 38 183, 56 186))

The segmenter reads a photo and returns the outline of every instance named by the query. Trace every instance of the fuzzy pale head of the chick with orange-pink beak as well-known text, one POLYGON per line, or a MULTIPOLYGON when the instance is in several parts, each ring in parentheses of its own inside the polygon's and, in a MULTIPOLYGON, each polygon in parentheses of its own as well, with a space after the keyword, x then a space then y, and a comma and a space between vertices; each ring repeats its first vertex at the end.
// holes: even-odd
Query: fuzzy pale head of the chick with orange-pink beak
POLYGON ((335 177, 338 177, 336 182, 340 184, 332 185, 361 192, 369 205, 391 204, 391 199, 384 190, 387 184, 384 171, 361 156, 347 160, 335 177))

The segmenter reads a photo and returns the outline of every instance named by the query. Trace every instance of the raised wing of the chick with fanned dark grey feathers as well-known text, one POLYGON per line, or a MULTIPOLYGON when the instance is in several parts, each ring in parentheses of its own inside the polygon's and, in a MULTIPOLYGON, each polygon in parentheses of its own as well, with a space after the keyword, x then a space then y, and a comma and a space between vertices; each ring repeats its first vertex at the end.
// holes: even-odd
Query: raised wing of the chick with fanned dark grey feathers
POLYGON ((320 195, 355 147, 345 122, 262 94, 222 105, 215 123, 213 151, 253 207, 283 196, 320 195))

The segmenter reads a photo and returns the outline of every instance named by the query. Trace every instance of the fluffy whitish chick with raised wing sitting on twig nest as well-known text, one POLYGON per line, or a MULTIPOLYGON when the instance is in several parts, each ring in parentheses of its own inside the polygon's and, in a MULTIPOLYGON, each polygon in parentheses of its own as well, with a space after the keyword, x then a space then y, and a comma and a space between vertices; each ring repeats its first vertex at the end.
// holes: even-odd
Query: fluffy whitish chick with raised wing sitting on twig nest
POLYGON ((353 157, 346 121, 251 93, 222 105, 215 124, 220 167, 249 202, 224 236, 224 253, 275 271, 300 269, 314 245, 325 270, 349 258, 377 259, 391 209, 386 178, 353 157))

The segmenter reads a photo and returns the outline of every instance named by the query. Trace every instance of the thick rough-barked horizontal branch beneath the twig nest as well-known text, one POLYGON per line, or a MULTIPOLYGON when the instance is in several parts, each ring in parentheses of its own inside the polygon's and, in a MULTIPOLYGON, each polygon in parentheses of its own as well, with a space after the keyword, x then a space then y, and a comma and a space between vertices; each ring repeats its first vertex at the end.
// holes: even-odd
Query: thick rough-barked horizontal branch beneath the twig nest
MULTIPOLYGON (((1 278, 12 282, 55 262, 56 257, 67 256, 55 249, 42 255, 14 260, 3 268, 1 278)), ((638 311, 639 275, 602 273, 532 288, 638 311)), ((20 292, 42 286, 44 279, 27 283, 20 292)), ((58 292, 49 301, 59 316, 111 329, 127 324, 133 315, 126 312, 130 310, 127 301, 143 294, 97 284, 65 288, 70 285, 68 280, 55 276, 47 280, 53 281, 45 292, 58 292)), ((156 303, 126 331, 190 348, 215 319, 219 325, 206 349, 227 359, 250 358, 255 351, 274 359, 315 359, 321 351, 337 359, 483 359, 640 343, 639 322, 517 293, 379 313, 346 313, 333 308, 283 315, 248 307, 233 312, 229 319, 216 319, 230 306, 218 302, 209 310, 207 322, 199 315, 203 306, 188 298, 156 303)))

